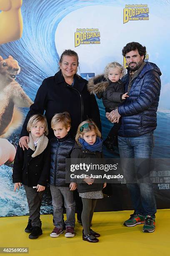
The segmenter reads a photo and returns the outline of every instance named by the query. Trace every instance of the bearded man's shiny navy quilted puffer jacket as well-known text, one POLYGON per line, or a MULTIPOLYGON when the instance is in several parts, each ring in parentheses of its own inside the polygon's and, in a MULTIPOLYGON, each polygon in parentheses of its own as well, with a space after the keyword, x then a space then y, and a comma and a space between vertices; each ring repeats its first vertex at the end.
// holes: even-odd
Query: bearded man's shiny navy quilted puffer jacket
MULTIPOLYGON (((138 137, 155 130, 157 126, 157 109, 160 96, 160 69, 156 64, 146 62, 140 74, 134 78, 128 98, 118 108, 122 124, 118 135, 138 137)), ((129 70, 122 81, 128 92, 129 70)))

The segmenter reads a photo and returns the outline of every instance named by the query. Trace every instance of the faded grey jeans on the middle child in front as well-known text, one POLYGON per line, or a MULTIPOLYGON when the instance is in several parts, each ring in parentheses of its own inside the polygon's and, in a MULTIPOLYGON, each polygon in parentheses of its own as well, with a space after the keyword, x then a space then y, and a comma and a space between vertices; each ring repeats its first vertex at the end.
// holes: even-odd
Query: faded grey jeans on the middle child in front
POLYGON ((63 228, 63 200, 66 209, 67 220, 66 227, 75 226, 75 201, 73 198, 73 191, 70 187, 59 187, 50 185, 53 206, 53 222, 55 227, 63 228))

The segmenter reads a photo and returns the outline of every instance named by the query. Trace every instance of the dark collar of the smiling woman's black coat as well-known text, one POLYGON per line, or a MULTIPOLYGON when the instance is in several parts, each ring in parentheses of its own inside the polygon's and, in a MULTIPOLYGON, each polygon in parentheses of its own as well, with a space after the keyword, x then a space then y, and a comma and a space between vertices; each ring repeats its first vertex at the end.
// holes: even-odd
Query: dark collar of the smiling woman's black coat
POLYGON ((67 85, 67 83, 65 82, 64 77, 61 74, 61 70, 58 71, 54 75, 54 80, 55 80, 55 84, 58 84, 58 85, 61 85, 61 86, 67 87, 67 88, 74 88, 74 89, 78 90, 79 92, 82 92, 83 88, 87 84, 87 81, 85 79, 83 79, 79 75, 75 74, 74 75, 74 85, 73 85, 73 87, 71 87, 70 85, 67 85))

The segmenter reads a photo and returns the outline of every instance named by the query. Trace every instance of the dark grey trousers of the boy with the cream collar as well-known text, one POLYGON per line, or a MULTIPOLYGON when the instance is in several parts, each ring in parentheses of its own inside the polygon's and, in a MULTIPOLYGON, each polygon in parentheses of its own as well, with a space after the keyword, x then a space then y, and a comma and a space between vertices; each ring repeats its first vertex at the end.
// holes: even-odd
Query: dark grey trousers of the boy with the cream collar
POLYGON ((37 192, 36 188, 33 189, 32 187, 28 187, 26 185, 24 185, 24 188, 27 196, 30 214, 29 220, 31 220, 31 225, 41 228, 40 206, 45 190, 37 192))

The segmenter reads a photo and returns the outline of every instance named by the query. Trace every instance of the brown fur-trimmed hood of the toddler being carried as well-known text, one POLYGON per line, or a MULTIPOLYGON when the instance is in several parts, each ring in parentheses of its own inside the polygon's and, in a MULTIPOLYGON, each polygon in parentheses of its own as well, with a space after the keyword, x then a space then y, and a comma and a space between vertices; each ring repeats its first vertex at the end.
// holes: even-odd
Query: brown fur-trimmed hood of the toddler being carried
POLYGON ((110 82, 104 77, 104 75, 100 74, 89 79, 87 90, 90 92, 90 94, 97 94, 105 91, 109 84, 110 82))

